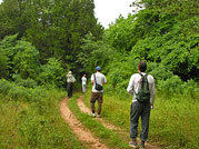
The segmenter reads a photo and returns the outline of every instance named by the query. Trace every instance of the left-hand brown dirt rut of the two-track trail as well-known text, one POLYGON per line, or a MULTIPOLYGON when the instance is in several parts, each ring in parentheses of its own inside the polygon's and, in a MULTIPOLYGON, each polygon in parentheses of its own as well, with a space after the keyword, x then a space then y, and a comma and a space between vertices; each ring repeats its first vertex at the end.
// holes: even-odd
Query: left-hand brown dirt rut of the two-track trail
POLYGON ((82 123, 68 108, 68 100, 69 99, 66 98, 60 102, 60 113, 78 138, 84 142, 84 146, 89 149, 109 149, 105 143, 101 143, 98 138, 93 137, 88 129, 83 128, 82 123))

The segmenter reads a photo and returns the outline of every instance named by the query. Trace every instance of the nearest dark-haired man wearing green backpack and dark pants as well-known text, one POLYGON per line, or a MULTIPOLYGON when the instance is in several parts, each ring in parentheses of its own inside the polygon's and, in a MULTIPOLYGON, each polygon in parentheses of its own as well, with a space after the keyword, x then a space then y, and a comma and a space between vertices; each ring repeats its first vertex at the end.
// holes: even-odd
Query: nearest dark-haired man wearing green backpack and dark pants
POLYGON ((138 64, 138 73, 133 73, 131 76, 127 88, 127 91, 130 95, 133 95, 131 107, 130 107, 130 137, 132 140, 129 142, 129 146, 133 148, 138 147, 137 143, 138 121, 139 121, 139 117, 141 117, 141 133, 140 133, 141 149, 145 149, 145 142, 148 139, 150 110, 151 108, 153 108, 153 102, 156 97, 155 79, 152 76, 146 73, 146 69, 147 69, 147 63, 145 61, 140 61, 138 64), (142 92, 145 92, 145 96, 147 98, 143 98, 143 93, 140 90, 141 87, 143 88, 145 85, 146 85, 145 88, 146 90, 142 89, 143 90, 142 92))

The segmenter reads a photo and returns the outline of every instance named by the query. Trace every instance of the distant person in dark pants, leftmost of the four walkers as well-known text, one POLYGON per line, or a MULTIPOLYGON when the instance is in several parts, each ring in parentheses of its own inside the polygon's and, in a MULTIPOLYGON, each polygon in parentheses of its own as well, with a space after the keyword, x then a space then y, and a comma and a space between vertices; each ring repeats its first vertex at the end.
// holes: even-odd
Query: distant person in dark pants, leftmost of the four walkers
POLYGON ((67 74, 67 92, 68 92, 68 98, 72 97, 72 87, 73 82, 76 81, 76 78, 72 76, 72 71, 69 71, 67 74))

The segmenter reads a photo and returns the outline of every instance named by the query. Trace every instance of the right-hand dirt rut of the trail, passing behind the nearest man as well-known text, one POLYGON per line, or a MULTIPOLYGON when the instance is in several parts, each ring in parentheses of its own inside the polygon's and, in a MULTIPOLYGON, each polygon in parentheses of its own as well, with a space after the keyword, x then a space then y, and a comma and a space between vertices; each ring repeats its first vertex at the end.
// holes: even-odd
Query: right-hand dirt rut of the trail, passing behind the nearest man
MULTIPOLYGON (((80 98, 78 99, 78 106, 80 108, 80 110, 84 113, 88 113, 90 115, 91 113, 91 110, 84 105, 83 102, 83 96, 80 96, 80 98)), ((118 130, 120 133, 125 133, 127 136, 129 136, 129 133, 127 132, 123 132, 121 128, 118 128, 111 123, 108 123, 106 122, 102 118, 98 118, 97 120, 101 121, 101 123, 107 128, 107 129, 110 129, 110 130, 118 130)), ((140 140, 138 140, 140 142, 140 140)), ((148 142, 146 142, 146 149, 160 149, 159 147, 157 146, 152 146, 152 145, 149 145, 148 142)))

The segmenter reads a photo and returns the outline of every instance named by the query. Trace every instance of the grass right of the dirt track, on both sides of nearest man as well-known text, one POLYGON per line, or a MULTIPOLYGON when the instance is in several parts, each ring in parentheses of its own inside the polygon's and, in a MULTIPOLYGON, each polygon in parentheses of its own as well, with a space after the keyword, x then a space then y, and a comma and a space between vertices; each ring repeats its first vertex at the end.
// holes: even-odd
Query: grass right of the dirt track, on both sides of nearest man
MULTIPOLYGON (((158 93, 158 92, 157 92, 158 93)), ((90 107, 90 92, 86 95, 86 105, 90 107)), ((129 132, 131 97, 118 97, 105 93, 102 117, 129 132)), ((155 109, 151 110, 149 142, 168 149, 199 148, 199 102, 181 96, 167 99, 157 95, 155 109)), ((139 125, 140 132, 140 125, 139 125)))

